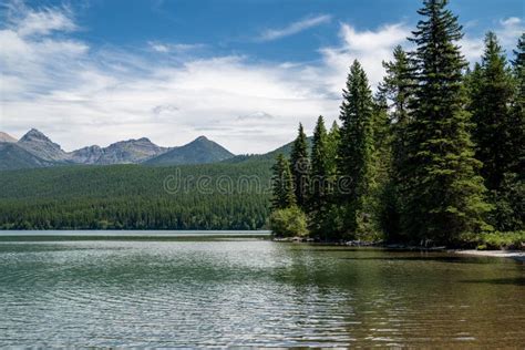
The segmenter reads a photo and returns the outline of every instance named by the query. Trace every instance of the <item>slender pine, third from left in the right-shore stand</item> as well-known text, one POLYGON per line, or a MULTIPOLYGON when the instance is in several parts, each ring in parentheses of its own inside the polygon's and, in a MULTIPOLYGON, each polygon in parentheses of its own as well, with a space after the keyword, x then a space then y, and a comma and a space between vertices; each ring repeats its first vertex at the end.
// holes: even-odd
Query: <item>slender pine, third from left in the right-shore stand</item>
POLYGON ((329 196, 329 144, 328 134, 322 115, 317 120, 311 147, 311 176, 309 213, 311 215, 311 231, 323 234, 327 238, 328 227, 325 217, 328 210, 329 196))

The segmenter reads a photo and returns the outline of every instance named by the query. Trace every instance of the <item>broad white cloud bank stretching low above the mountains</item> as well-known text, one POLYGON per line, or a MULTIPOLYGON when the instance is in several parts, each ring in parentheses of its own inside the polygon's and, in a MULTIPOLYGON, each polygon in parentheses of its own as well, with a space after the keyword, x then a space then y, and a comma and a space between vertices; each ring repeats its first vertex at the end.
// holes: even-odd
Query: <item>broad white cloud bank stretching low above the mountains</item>
MULTIPOLYGON (((199 44, 152 41, 150 50, 166 53, 152 61, 68 39, 64 32, 76 28, 68 10, 43 12, 30 13, 71 23, 22 24, 25 13, 0 30, 0 130, 21 136, 38 127, 68 151, 142 136, 175 146, 205 134, 234 153, 268 152, 295 137, 299 122, 309 132, 319 114, 331 123, 352 61, 361 61, 373 86, 381 61, 410 35, 403 23, 364 31, 342 23, 340 44, 320 49, 320 60, 308 64, 199 58, 192 54, 199 44), (168 54, 177 50, 187 54, 168 54)), ((505 23, 502 30, 516 20, 505 23)))

